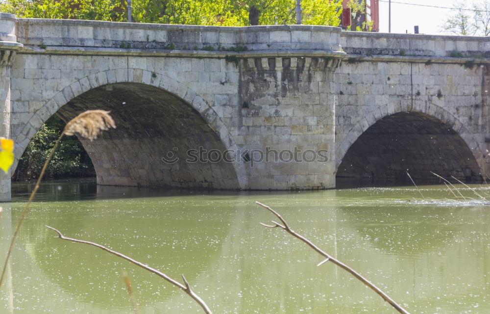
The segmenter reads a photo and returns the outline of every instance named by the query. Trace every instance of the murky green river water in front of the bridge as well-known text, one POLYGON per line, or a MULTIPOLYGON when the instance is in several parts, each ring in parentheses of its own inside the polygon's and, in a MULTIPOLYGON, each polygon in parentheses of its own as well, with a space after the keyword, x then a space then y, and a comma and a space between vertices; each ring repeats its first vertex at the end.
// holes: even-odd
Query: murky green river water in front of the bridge
MULTIPOLYGON (((490 200, 490 188, 476 186, 490 200)), ((0 257, 32 184, 3 204, 0 257)), ((294 192, 155 191, 44 183, 16 242, 0 313, 203 313, 170 283, 87 245, 90 240, 181 281, 214 314, 396 313, 372 290, 279 228, 292 229, 353 267, 412 314, 490 313, 490 201, 445 186, 294 192), (470 199, 471 197, 472 199, 470 199), (10 279, 11 278, 11 279, 10 279)))

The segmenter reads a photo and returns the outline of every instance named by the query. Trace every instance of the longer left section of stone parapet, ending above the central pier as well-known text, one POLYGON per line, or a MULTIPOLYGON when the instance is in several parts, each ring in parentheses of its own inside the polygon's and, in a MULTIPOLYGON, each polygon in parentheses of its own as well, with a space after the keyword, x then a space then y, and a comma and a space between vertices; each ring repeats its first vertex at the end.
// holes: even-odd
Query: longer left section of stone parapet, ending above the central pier
POLYGON ((203 51, 320 50, 340 52, 341 28, 332 26, 191 26, 17 19, 25 45, 203 51))

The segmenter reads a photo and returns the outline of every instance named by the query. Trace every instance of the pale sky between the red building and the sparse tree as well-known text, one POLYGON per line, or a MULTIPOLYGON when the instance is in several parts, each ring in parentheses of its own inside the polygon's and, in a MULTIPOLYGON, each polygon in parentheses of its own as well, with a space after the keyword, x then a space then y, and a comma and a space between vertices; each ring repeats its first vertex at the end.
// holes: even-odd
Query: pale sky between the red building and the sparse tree
MULTIPOLYGON (((392 33, 414 33, 414 26, 418 25, 420 33, 444 34, 441 26, 444 21, 454 13, 454 10, 426 6, 400 4, 395 2, 454 7, 458 0, 392 0, 392 33)), ((471 4, 475 0, 465 0, 471 4)), ((388 0, 379 0, 379 26, 380 32, 388 32, 388 0)))

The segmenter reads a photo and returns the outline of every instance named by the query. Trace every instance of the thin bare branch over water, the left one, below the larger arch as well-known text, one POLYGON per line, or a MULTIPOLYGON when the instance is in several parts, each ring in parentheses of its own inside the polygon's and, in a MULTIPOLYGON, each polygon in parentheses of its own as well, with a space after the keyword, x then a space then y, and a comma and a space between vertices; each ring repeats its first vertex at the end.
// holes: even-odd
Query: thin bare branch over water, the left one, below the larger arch
POLYGON ((185 293, 189 294, 189 296, 191 298, 193 298, 197 302, 197 304, 199 304, 201 306, 201 308, 204 310, 204 312, 206 314, 212 314, 212 312, 209 309, 209 307, 207 306, 207 304, 191 289, 191 287, 189 286, 189 283, 184 278, 184 275, 182 275, 182 279, 184 280, 184 284, 185 285, 182 285, 181 283, 179 283, 178 281, 170 278, 169 276, 167 276, 166 274, 162 273, 161 271, 158 271, 155 268, 152 268, 152 267, 150 267, 150 266, 148 266, 148 265, 146 265, 146 264, 144 264, 142 262, 138 262, 136 260, 133 260, 132 258, 130 258, 130 257, 128 257, 128 256, 126 256, 126 255, 124 255, 122 253, 113 251, 113 250, 111 250, 111 249, 109 249, 109 248, 107 248, 107 247, 105 247, 103 245, 100 245, 98 243, 94 243, 94 242, 90 242, 90 241, 84 241, 84 240, 79 240, 79 239, 74 239, 74 238, 71 238, 71 237, 66 237, 61 232, 59 232, 58 230, 54 229, 53 227, 49 227, 49 226, 45 226, 45 227, 48 228, 48 229, 51 229, 51 230, 55 231, 58 234, 58 237, 60 239, 68 240, 68 241, 72 241, 72 242, 77 242, 77 243, 89 244, 89 245, 98 247, 99 249, 102 249, 102 250, 104 250, 106 252, 109 252, 109 253, 111 253, 113 255, 119 256, 120 258, 123 258, 126 261, 132 262, 133 264, 135 264, 137 266, 140 266, 141 268, 146 269, 147 271, 152 272, 152 273, 154 273, 157 276, 162 277, 163 279, 165 279, 166 281, 168 281, 169 283, 171 283, 175 287, 180 288, 185 293))

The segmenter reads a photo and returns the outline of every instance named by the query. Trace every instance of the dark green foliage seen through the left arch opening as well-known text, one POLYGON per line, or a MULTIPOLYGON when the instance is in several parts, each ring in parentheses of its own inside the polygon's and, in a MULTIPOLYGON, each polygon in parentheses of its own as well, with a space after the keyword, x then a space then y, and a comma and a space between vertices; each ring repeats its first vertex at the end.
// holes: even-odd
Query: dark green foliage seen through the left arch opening
MULTIPOLYGON (((12 176, 14 180, 30 180, 39 176, 49 151, 64 127, 65 123, 56 115, 53 115, 41 126, 19 160, 17 169, 12 176)), ((80 141, 75 136, 63 137, 49 163, 45 177, 91 176, 95 176, 94 166, 80 141)))

